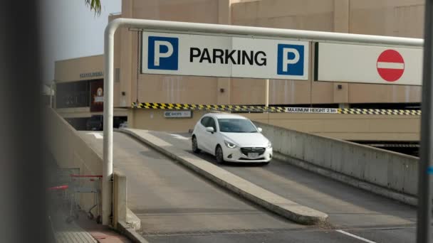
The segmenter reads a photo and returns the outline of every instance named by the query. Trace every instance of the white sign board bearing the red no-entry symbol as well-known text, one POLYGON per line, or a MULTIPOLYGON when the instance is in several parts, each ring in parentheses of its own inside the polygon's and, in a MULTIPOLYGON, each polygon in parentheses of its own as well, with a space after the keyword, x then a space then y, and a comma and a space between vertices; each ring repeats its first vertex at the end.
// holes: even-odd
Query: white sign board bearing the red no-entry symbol
POLYGON ((315 80, 422 85, 422 49, 317 43, 315 80))

